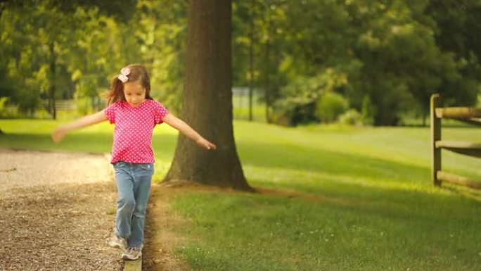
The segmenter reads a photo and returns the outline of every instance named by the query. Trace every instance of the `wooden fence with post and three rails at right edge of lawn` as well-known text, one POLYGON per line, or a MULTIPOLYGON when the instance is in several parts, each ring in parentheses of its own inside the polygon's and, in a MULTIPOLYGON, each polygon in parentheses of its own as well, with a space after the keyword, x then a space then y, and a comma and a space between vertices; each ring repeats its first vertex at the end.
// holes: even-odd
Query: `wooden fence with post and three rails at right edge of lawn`
POLYGON ((466 141, 441 140, 441 120, 450 118, 467 122, 473 125, 481 125, 481 108, 447 107, 438 108, 439 94, 432 94, 430 99, 430 122, 431 122, 431 179, 435 186, 442 182, 461 184, 466 187, 481 189, 481 180, 444 172, 441 168, 441 149, 447 149, 467 156, 481 158, 481 143, 466 141))

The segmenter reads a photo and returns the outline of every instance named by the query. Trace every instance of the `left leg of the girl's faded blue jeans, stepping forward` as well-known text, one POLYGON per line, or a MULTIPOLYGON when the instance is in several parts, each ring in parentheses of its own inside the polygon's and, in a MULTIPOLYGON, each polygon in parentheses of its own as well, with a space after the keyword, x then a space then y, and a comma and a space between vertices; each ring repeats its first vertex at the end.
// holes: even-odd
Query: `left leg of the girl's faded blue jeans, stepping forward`
POLYGON ((136 205, 134 198, 134 178, 128 163, 117 162, 115 181, 117 182, 117 214, 115 215, 115 235, 128 239, 132 234, 132 213, 136 205))

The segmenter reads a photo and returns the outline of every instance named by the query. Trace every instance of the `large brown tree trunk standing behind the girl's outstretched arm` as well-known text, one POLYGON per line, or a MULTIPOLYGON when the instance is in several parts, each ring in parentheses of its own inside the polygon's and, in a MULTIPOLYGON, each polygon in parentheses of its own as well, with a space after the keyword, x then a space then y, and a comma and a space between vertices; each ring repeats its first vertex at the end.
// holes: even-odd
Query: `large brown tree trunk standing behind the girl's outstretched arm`
POLYGON ((191 0, 182 119, 217 144, 207 151, 179 135, 165 182, 250 190, 233 139, 231 1, 191 0))

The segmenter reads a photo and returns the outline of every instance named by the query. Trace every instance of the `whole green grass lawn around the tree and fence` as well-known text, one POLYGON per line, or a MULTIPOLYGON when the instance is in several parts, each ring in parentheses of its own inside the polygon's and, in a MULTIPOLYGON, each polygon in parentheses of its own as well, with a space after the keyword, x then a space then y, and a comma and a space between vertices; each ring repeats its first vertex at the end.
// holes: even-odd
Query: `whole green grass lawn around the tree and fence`
MULTIPOLYGON (((61 144, 56 122, 0 120, 0 146, 110 151, 112 126, 89 127, 61 144)), ((172 201, 186 219, 172 228, 193 270, 479 270, 480 193, 430 182, 429 129, 277 127, 234 122, 254 187, 308 194, 186 191, 172 201)), ((481 141, 481 130, 448 127, 444 139, 481 141)), ((154 134, 162 179, 177 132, 154 134)), ((443 151, 446 171, 481 179, 481 160, 443 151)))

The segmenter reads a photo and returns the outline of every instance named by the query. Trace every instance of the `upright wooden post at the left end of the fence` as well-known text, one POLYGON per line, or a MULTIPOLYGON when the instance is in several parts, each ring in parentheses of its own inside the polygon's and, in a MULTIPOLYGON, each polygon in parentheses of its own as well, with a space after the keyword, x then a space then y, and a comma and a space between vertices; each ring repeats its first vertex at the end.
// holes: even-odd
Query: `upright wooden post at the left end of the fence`
POLYGON ((431 180, 439 187, 441 182, 437 179, 437 171, 441 170, 441 148, 436 148, 436 141, 441 140, 441 119, 436 116, 437 101, 440 94, 432 94, 430 99, 430 125, 431 125, 431 180))

